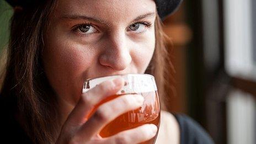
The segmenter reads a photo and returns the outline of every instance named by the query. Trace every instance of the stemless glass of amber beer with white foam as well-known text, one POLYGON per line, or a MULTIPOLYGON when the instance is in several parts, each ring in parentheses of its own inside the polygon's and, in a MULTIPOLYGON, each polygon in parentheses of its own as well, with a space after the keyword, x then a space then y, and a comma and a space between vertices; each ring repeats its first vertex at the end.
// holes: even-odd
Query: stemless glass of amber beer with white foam
MULTIPOLYGON (((102 102, 100 102, 99 104, 95 105, 94 109, 87 116, 87 118, 92 115, 92 113, 98 108, 99 105, 108 102, 109 100, 116 97, 119 97, 120 95, 141 94, 144 98, 144 102, 140 108, 124 113, 118 116, 118 118, 116 118, 115 120, 111 121, 108 125, 103 127, 103 129, 99 132, 99 135, 102 137, 109 137, 117 134, 118 132, 129 130, 143 124, 154 124, 159 129, 159 98, 156 82, 154 81, 154 77, 150 74, 123 74, 87 79, 87 81, 84 82, 83 93, 97 86, 97 84, 100 84, 108 79, 114 79, 116 77, 124 78, 125 86, 122 87, 115 95, 111 95, 110 97, 102 100, 102 102)), ((157 134, 151 140, 143 143, 154 143, 156 141, 156 138, 157 134)))

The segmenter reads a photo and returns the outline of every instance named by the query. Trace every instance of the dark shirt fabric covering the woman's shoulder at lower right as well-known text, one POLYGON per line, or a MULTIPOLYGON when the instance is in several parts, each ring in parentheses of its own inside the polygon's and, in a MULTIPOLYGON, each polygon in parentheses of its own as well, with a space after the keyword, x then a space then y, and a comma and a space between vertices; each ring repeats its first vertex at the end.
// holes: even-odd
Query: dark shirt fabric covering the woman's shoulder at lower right
POLYGON ((179 123, 180 143, 214 143, 198 122, 184 114, 175 114, 174 116, 179 123))

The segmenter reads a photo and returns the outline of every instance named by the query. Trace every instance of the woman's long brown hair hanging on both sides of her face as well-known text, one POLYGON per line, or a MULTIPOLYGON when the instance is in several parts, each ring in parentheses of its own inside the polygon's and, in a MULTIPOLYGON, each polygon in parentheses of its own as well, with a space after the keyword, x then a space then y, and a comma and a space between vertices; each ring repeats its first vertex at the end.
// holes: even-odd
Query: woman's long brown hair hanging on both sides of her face
MULTIPOLYGON (((42 66, 44 34, 54 17, 57 2, 46 1, 26 8, 15 8, 10 25, 10 40, 1 97, 9 113, 18 114, 19 121, 35 143, 54 143, 61 129, 58 103, 42 66)), ((164 45, 161 19, 156 18, 156 49, 146 73, 156 77, 161 107, 171 93, 172 65, 164 45), (168 83, 167 83, 168 82, 168 83)), ((0 84, 1 85, 1 84, 0 84)))

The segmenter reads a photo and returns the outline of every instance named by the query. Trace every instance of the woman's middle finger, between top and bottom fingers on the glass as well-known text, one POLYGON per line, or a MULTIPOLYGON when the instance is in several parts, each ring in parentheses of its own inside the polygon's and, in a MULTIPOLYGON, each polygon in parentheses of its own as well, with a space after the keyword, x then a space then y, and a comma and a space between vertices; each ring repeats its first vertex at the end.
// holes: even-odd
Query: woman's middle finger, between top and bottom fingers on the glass
POLYGON ((99 131, 110 121, 117 118, 119 115, 139 108, 143 103, 143 97, 137 94, 122 95, 110 102, 100 106, 97 111, 79 130, 82 137, 92 137, 98 134, 99 131))

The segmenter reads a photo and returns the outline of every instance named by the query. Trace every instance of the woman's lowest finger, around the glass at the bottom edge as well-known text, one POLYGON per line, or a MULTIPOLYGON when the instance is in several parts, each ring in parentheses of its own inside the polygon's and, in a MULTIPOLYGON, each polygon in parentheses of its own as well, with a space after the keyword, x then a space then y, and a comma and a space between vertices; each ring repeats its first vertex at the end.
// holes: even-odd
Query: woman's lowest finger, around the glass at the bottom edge
POLYGON ((157 126, 145 124, 131 130, 119 132, 118 134, 105 138, 105 143, 140 143, 150 140, 157 133, 157 126))

